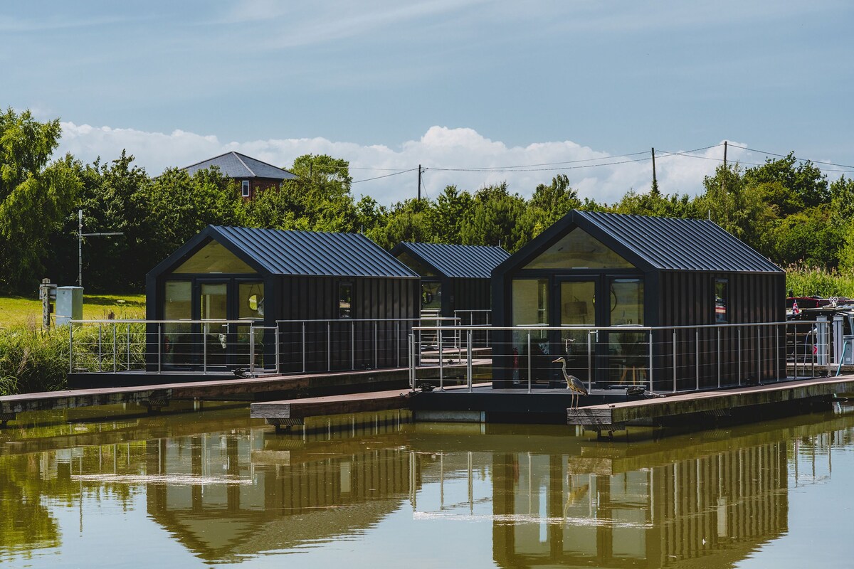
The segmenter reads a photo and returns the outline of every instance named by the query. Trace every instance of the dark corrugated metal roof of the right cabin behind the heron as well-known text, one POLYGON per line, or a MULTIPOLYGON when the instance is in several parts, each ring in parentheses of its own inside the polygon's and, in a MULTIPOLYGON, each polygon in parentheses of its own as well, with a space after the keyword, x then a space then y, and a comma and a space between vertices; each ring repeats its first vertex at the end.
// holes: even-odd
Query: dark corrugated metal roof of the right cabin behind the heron
POLYGON ((752 247, 705 219, 652 218, 600 212, 573 213, 601 229, 657 269, 781 271, 752 247))

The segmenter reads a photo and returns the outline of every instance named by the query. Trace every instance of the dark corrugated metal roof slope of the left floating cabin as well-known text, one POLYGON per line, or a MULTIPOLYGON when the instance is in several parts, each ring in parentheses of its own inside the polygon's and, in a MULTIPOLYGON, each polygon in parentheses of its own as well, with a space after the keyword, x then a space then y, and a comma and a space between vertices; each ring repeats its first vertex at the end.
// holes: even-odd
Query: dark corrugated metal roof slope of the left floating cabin
POLYGON ((230 242, 273 275, 418 277, 358 233, 209 227, 214 239, 230 242))

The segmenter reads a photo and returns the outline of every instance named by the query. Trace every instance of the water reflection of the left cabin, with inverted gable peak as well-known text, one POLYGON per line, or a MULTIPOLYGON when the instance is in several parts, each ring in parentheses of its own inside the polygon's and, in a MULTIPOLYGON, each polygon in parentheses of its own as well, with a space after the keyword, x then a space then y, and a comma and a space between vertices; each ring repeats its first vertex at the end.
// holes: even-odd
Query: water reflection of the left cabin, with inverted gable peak
MULTIPOLYGON (((380 431, 395 438, 393 425, 380 431)), ((239 561, 364 531, 408 496, 411 456, 400 444, 307 446, 252 433, 149 442, 149 476, 202 481, 149 483, 146 494, 152 519, 204 560, 239 561)))

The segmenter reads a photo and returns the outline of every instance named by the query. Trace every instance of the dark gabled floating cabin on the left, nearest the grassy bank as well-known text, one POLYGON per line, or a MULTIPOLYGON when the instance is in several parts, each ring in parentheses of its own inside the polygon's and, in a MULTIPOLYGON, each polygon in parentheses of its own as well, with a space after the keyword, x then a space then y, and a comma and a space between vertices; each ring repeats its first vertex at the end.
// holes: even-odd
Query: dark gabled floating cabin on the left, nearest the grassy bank
MULTIPOLYGON (((418 275, 359 234, 208 226, 149 272, 146 292, 149 320, 241 321, 222 330, 164 324, 164 369, 197 369, 202 346, 208 368, 245 366, 243 321, 268 327, 255 338, 256 358, 264 352, 256 365, 267 369, 273 328, 282 372, 391 367, 406 362, 418 317, 418 275)), ((155 332, 149 354, 158 353, 155 332)))

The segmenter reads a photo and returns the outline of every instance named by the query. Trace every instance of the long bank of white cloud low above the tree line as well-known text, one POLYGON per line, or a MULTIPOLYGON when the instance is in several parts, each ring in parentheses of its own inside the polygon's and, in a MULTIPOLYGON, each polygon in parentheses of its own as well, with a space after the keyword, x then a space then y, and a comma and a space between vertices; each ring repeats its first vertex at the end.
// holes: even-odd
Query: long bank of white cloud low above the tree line
MULTIPOLYGON (((61 154, 70 152, 85 162, 98 156, 108 161, 117 158, 122 148, 152 176, 170 166, 194 164, 231 150, 282 167, 292 164, 301 154, 329 154, 349 161, 354 181, 378 177, 354 183, 353 193, 357 198, 370 195, 383 205, 417 195, 418 165, 426 168, 423 192, 430 198, 436 198, 450 184, 473 192, 504 181, 512 192, 528 197, 537 184, 549 183, 552 177, 564 173, 582 198, 611 203, 629 189, 645 192, 652 183, 648 152, 615 156, 572 141, 507 146, 469 128, 432 126, 418 140, 389 148, 325 138, 222 142, 217 136, 186 131, 165 134, 62 123, 61 154), (407 172, 387 176, 395 171, 407 172)), ((698 193, 703 177, 713 173, 722 160, 721 146, 693 152, 693 158, 656 152, 658 186, 666 194, 698 193)), ((749 154, 730 146, 730 161, 746 159, 749 154)))

